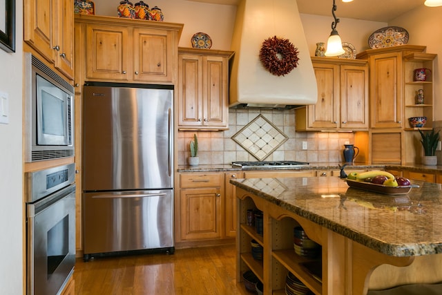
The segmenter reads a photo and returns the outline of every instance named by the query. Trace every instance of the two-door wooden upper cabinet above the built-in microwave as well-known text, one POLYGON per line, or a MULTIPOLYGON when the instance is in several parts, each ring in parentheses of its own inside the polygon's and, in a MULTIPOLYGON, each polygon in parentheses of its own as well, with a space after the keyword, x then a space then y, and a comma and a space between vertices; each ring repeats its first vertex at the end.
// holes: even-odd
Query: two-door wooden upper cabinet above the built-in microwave
POLYGON ((24 41, 73 80, 73 0, 24 0, 23 15, 24 41))

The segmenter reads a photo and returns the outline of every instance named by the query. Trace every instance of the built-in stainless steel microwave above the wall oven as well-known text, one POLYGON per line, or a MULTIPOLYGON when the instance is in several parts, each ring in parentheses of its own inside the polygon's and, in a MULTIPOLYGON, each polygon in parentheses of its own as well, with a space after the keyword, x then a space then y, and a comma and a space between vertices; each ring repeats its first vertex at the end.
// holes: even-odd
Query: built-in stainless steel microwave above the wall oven
POLYGON ((25 162, 74 156, 74 87, 25 53, 25 162))

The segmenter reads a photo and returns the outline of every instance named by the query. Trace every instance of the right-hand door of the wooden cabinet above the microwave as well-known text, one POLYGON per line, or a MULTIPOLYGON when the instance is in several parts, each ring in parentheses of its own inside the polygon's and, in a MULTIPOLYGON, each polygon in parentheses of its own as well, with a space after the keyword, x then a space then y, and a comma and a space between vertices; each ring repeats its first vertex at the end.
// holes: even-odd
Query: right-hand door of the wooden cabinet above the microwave
POLYGON ((57 34, 55 44, 55 67, 61 73, 73 80, 74 76, 74 2, 61 0, 56 4, 58 25, 54 32, 57 34))

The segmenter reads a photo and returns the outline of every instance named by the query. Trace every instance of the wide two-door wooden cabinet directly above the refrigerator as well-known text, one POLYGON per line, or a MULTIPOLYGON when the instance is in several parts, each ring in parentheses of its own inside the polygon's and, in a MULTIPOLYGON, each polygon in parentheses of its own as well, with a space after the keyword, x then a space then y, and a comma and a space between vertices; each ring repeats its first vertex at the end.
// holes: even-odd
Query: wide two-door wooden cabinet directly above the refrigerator
POLYGON ((78 53, 85 80, 176 82, 182 24, 91 15, 76 15, 75 22, 86 40, 78 53))

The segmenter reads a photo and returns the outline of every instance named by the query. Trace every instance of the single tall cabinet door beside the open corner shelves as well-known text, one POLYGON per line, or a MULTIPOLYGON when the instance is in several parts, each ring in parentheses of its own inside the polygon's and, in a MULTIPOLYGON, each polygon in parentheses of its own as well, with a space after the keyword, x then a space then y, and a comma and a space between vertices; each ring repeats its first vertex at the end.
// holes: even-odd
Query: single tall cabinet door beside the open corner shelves
POLYGON ((372 128, 402 126, 401 53, 372 55, 370 64, 370 124, 372 128))

